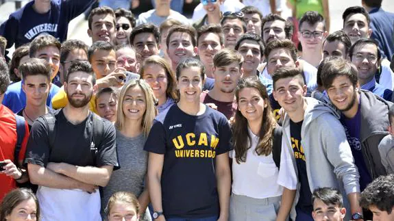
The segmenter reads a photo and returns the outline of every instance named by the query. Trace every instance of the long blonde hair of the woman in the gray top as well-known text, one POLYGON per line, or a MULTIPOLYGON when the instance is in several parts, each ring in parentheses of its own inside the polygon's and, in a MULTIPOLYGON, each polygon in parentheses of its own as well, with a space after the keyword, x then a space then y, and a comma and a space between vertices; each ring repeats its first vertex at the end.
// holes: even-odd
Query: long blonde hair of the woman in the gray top
POLYGON ((119 94, 118 110, 116 112, 115 127, 122 130, 125 124, 125 114, 123 113, 123 101, 128 90, 139 86, 145 94, 146 109, 143 115, 141 127, 143 127, 143 133, 145 137, 149 135, 149 131, 153 125, 153 119, 158 114, 156 109, 156 98, 153 94, 151 86, 149 86, 143 79, 129 81, 123 86, 121 93, 119 94))

